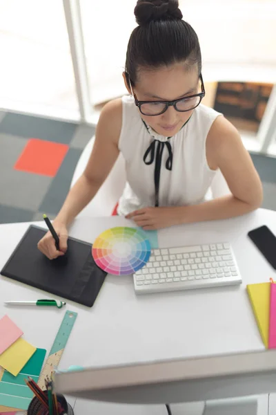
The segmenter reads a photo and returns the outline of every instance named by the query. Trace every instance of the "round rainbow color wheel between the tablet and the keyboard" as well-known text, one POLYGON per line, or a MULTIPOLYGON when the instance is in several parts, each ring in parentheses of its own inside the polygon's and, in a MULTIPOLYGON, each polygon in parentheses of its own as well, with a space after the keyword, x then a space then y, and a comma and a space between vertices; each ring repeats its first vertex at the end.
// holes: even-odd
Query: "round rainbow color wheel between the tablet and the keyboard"
POLYGON ((110 228, 95 240, 92 257, 106 273, 130 275, 148 262, 150 241, 134 228, 110 228))

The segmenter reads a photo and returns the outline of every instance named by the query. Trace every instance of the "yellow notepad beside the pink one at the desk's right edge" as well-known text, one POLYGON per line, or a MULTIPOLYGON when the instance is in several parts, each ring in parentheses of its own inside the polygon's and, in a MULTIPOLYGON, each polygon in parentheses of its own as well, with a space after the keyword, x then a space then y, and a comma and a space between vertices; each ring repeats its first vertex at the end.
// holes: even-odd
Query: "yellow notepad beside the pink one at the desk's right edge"
POLYGON ((259 333, 261 334, 267 349, 270 313, 270 282, 248 284, 246 288, 257 321, 259 333))

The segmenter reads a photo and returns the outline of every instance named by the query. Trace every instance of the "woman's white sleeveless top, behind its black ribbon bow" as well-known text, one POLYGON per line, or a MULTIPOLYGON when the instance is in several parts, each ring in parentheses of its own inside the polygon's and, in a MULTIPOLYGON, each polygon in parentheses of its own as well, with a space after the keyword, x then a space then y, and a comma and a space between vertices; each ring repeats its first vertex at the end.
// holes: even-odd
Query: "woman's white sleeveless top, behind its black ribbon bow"
MULTIPOLYGON (((146 129, 139 109, 130 96, 122 98, 123 118, 119 150, 126 162, 126 187, 119 199, 118 214, 155 206, 155 160, 144 163, 144 154, 152 140, 166 141, 150 127, 146 129)), ((202 104, 193 111, 190 120, 169 138, 172 147, 172 169, 166 169, 168 149, 164 147, 159 183, 159 206, 195 205, 205 200, 215 176, 206 160, 206 137, 217 116, 214 109, 202 104)))

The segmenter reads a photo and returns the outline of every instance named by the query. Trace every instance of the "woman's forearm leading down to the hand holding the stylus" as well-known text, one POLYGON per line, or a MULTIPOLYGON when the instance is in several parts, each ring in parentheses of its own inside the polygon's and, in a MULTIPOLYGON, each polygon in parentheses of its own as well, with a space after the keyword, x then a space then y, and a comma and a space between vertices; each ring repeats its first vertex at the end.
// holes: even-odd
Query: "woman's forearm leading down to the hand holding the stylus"
POLYGON ((81 175, 75 185, 72 187, 66 200, 63 203, 59 214, 55 218, 55 221, 69 225, 75 216, 86 207, 99 190, 100 184, 93 183, 81 175))

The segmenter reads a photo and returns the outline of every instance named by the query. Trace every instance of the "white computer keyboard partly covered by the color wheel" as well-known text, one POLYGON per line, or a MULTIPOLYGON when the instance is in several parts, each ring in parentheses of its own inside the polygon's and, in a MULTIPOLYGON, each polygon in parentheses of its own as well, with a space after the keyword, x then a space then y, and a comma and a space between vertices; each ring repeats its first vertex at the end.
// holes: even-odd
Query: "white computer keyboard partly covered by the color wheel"
POLYGON ((133 275, 137 294, 241 284, 229 243, 153 249, 133 275))

